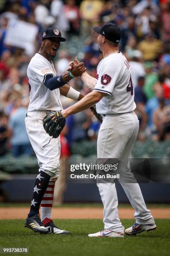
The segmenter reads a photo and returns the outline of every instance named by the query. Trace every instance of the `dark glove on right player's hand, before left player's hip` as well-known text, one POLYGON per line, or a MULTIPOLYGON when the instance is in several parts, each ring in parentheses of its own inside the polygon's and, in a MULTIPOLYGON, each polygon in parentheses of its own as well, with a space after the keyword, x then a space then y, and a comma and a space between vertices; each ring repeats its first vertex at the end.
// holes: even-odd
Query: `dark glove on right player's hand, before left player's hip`
POLYGON ((62 116, 61 110, 51 111, 45 116, 42 123, 46 133, 57 138, 65 126, 65 118, 62 116), (55 120, 51 117, 52 114, 54 114, 55 120))

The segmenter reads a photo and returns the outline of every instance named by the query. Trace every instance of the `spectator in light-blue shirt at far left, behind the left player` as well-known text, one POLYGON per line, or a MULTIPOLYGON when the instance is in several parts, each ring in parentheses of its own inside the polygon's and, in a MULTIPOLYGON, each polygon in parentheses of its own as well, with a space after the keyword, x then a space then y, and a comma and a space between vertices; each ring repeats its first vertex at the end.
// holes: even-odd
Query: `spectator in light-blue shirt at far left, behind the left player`
POLYGON ((30 156, 32 147, 24 123, 27 108, 22 107, 20 97, 15 97, 13 103, 13 113, 11 113, 8 123, 12 154, 15 157, 23 154, 30 156))

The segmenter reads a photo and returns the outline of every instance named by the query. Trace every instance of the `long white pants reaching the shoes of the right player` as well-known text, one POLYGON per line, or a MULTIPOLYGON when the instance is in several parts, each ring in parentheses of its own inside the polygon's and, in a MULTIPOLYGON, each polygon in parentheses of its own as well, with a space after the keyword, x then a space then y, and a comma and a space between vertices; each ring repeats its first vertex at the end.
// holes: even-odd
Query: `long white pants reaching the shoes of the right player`
MULTIPOLYGON (((128 159, 138 135, 139 120, 134 112, 106 115, 97 138, 97 158, 128 159)), ((125 170, 124 170, 125 171, 125 170)), ((130 164, 127 161, 126 174, 130 173, 130 164)), ((121 177, 121 169, 120 169, 121 177)), ((121 180, 119 180, 121 183, 121 180)), ((154 223, 150 210, 147 209, 138 183, 121 183, 125 193, 135 209, 135 219, 139 224, 154 223)), ((106 229, 124 233, 118 210, 117 192, 114 183, 97 183, 102 203, 104 205, 104 225, 106 229)))

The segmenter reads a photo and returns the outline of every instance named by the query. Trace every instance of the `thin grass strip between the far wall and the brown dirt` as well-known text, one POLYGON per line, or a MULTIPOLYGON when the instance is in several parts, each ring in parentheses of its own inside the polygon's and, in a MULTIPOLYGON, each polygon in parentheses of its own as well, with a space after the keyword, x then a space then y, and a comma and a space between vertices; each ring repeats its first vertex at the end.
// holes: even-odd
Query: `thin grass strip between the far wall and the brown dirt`
MULTIPOLYGON (((30 203, 11 203, 1 202, 0 207, 30 207, 30 203)), ((64 203, 62 205, 53 205, 53 207, 103 207, 102 203, 64 203)), ((130 203, 119 204, 119 207, 132 208, 130 203)), ((170 204, 147 204, 148 208, 170 208, 170 204)))

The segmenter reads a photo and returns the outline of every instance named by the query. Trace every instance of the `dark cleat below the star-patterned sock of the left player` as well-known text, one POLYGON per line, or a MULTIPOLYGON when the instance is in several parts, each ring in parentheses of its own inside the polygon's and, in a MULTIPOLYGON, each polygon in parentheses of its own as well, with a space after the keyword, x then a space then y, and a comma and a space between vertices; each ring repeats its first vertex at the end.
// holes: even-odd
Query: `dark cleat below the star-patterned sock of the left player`
POLYGON ((48 229, 44 227, 40 220, 40 215, 36 214, 25 220, 25 228, 30 228, 34 232, 48 234, 48 229))

